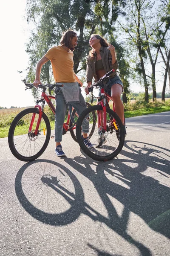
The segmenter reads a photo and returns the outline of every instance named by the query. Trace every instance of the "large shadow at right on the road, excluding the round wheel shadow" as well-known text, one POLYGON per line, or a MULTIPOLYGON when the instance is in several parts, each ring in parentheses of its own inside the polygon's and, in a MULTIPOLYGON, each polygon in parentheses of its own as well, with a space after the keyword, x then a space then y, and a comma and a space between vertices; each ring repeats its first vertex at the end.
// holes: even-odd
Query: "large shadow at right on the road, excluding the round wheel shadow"
MULTIPOLYGON (((65 161, 93 182, 109 215, 105 219, 94 211, 97 220, 139 247, 142 255, 150 255, 146 247, 127 234, 127 226, 133 212, 151 229, 170 238, 170 151, 148 143, 126 141, 121 154, 123 159, 96 162, 96 172, 88 165, 88 157, 82 157, 82 161, 79 157, 74 157, 74 162, 68 158, 65 161), (81 163, 85 164, 84 170, 79 168, 81 163), (121 216, 114 206, 115 199, 124 207, 121 216)), ((92 215, 91 218, 95 220, 92 215)))

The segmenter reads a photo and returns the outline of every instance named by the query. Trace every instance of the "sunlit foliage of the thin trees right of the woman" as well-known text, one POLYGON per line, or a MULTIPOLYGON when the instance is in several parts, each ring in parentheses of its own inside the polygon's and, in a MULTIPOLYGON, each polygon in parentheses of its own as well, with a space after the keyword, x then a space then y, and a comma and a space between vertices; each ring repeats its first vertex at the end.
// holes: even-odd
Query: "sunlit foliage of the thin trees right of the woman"
POLYGON ((167 0, 162 0, 161 4, 159 2, 158 7, 152 0, 128 0, 126 22, 122 23, 118 20, 127 35, 125 43, 131 49, 127 57, 136 72, 135 77, 144 84, 147 102, 150 84, 152 84, 153 101, 156 99, 156 64, 169 29, 167 6, 167 0))

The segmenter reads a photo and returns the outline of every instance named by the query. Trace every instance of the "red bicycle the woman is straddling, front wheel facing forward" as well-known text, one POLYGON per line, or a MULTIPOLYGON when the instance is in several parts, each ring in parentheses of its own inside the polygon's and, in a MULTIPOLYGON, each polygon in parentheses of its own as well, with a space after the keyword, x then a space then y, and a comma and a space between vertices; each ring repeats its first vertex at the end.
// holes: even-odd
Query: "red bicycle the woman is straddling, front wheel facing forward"
POLYGON ((89 92, 93 92, 94 87, 100 88, 101 96, 98 97, 99 103, 85 109, 77 120, 77 141, 85 154, 97 161, 107 161, 116 157, 122 150, 125 142, 125 131, 122 121, 115 112, 114 104, 113 110, 111 110, 108 102, 109 100, 112 100, 112 98, 106 93, 107 87, 105 87, 105 82, 113 72, 114 70, 111 70, 89 88, 89 92), (93 128, 93 134, 90 138, 93 147, 88 148, 82 140, 81 126, 85 119, 89 120, 90 127, 91 125, 94 125, 94 113, 97 120, 95 128, 93 128))

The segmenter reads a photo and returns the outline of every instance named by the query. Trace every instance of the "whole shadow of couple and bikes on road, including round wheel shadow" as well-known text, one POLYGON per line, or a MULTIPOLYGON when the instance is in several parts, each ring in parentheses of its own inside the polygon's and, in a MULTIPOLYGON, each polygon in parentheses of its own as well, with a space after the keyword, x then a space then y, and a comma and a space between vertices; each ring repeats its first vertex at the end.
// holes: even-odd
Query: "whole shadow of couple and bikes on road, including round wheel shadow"
POLYGON ((83 213, 134 244, 142 255, 149 256, 150 250, 133 239, 127 227, 133 213, 154 231, 170 237, 170 151, 148 143, 126 141, 121 154, 123 158, 118 156, 102 163, 85 155, 74 159, 65 157, 74 173, 52 160, 26 163, 16 176, 17 198, 42 223, 67 225, 83 213), (76 173, 91 181, 108 216, 95 209, 95 204, 85 201, 84 194, 94 192, 88 188, 83 191, 76 173), (44 206, 43 201, 49 204, 44 206), (122 212, 115 202, 123 206, 122 212))

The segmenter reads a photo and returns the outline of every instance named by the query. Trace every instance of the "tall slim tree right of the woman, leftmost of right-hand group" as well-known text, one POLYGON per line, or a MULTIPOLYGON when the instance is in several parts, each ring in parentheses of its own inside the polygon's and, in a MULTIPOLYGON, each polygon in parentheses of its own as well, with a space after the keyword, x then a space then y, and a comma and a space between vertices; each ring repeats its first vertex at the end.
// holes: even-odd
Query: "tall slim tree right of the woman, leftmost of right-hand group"
MULTIPOLYGON (((148 12, 150 12, 150 0, 128 0, 126 7, 126 22, 120 23, 123 31, 127 34, 127 46, 131 50, 131 55, 133 52, 137 51, 137 55, 134 56, 133 62, 136 63, 134 70, 138 72, 139 79, 143 80, 144 90, 145 90, 145 101, 149 102, 148 87, 149 82, 147 80, 147 54, 146 54, 146 39, 144 38, 144 26, 142 19, 148 12), (133 51, 133 52, 132 52, 133 51)), ((148 17, 147 17, 148 19, 148 17)), ((137 77, 137 76, 136 76, 137 77)))

